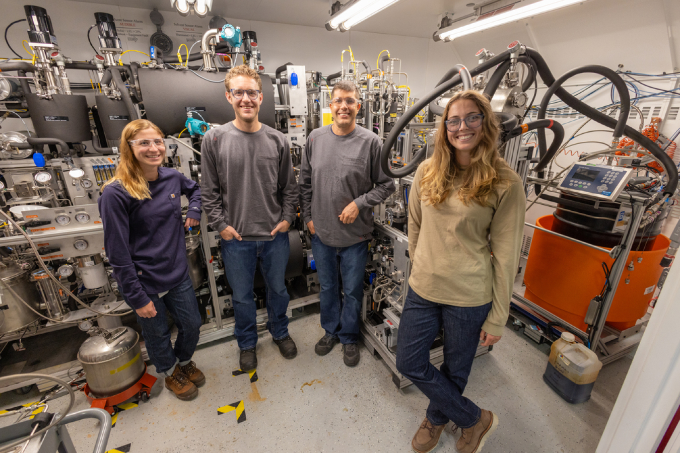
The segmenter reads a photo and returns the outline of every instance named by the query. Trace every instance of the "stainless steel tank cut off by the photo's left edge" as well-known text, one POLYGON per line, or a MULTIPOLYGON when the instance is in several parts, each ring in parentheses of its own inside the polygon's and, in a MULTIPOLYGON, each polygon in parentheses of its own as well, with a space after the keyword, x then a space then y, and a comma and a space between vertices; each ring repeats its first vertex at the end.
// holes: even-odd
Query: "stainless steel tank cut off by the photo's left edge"
POLYGON ((3 280, 3 283, 0 283, 0 333, 20 329, 39 319, 40 316, 22 304, 7 288, 7 286, 12 288, 29 306, 37 310, 40 294, 35 283, 29 281, 29 271, 14 263, 1 266, 0 279, 3 280))

